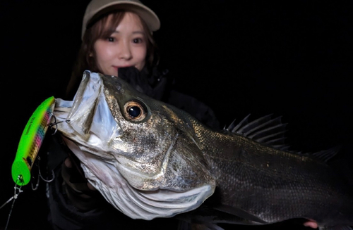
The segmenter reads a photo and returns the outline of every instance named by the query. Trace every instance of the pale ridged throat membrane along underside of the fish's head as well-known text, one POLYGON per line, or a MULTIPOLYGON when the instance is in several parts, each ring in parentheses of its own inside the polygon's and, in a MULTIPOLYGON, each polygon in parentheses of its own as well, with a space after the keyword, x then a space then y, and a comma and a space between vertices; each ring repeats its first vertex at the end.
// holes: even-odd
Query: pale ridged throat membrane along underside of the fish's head
POLYGON ((188 191, 157 189, 143 191, 134 188, 114 164, 83 151, 76 143, 64 138, 66 145, 81 162, 85 177, 117 210, 132 219, 151 220, 174 217, 196 209, 213 193, 213 186, 204 185, 188 191))

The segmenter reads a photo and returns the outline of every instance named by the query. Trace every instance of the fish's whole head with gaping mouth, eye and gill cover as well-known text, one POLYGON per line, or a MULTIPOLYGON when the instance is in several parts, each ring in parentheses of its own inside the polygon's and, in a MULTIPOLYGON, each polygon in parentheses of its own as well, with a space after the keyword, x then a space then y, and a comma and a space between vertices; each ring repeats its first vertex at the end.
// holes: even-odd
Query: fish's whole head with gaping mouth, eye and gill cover
POLYGON ((126 215, 172 217, 213 194, 215 179, 192 127, 198 121, 189 114, 90 71, 72 104, 64 102, 56 103, 64 121, 57 129, 85 177, 126 215))

